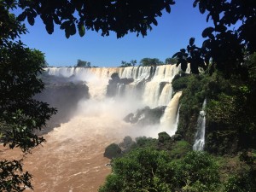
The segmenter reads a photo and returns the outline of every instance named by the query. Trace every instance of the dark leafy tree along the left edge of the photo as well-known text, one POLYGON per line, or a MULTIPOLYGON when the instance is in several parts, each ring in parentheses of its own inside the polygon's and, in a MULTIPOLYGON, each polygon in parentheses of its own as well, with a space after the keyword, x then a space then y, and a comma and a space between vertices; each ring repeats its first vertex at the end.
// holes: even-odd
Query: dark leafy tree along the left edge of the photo
MULTIPOLYGON (((26 27, 9 9, 15 9, 15 1, 0 2, 0 142, 26 153, 44 143, 44 137, 38 137, 34 131, 45 125, 55 109, 33 99, 44 89, 42 80, 38 79, 46 64, 44 54, 15 41, 26 33, 26 27)), ((21 163, 22 159, 1 158, 1 191, 32 188, 32 175, 23 172, 21 163)))

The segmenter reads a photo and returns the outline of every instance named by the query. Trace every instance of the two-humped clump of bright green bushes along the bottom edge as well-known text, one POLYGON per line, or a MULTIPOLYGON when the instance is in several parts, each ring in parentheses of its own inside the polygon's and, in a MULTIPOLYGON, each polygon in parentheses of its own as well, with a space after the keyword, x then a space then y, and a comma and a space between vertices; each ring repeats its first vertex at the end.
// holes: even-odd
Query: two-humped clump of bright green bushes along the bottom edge
POLYGON ((113 172, 99 191, 219 191, 218 183, 218 166, 208 154, 172 160, 166 151, 137 148, 113 160, 113 172))

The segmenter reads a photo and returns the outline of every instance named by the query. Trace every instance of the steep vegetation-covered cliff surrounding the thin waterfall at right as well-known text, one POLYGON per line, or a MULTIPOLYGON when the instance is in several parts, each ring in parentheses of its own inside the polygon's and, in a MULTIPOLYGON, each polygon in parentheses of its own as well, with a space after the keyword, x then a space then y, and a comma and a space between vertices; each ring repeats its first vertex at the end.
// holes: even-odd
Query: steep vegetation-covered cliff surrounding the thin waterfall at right
MULTIPOLYGON (((251 73, 252 69, 248 72, 251 73)), ((214 154, 233 154, 244 148, 255 148, 256 96, 255 78, 246 81, 222 73, 211 76, 180 74, 173 79, 173 89, 183 90, 177 133, 194 142, 198 113, 207 98, 206 149, 214 154)))

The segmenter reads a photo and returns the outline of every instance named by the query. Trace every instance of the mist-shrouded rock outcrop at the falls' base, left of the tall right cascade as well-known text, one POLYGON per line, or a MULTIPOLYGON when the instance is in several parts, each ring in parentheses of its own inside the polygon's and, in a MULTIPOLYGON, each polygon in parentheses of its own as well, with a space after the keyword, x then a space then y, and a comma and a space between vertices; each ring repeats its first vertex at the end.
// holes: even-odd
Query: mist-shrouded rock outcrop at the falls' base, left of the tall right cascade
POLYGON ((160 124, 160 118, 165 112, 166 106, 158 108, 138 109, 136 113, 129 113, 125 118, 125 122, 138 125, 154 125, 160 124))

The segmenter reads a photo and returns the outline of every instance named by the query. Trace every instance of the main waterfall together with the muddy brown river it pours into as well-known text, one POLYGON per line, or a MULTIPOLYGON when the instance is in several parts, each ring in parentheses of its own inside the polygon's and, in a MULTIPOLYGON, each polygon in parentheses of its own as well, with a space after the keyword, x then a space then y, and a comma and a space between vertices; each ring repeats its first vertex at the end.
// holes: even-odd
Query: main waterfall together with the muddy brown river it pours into
POLYGON ((179 67, 175 66, 47 68, 46 72, 51 75, 67 78, 75 75, 76 79, 84 80, 89 87, 90 99, 80 101, 73 118, 45 135, 47 143, 44 147, 35 148, 27 156, 24 164, 34 176, 34 190, 97 191, 110 173, 110 168, 104 166, 109 161, 103 157, 108 144, 119 143, 127 135, 133 138, 158 137, 160 131, 166 131, 172 136, 177 131, 177 108, 181 96, 178 92, 172 98, 172 79, 178 71, 179 67), (106 97, 112 73, 119 73, 120 78, 135 79, 132 84, 123 84, 124 96, 106 97), (143 79, 147 79, 143 90, 137 92, 135 88, 143 79), (165 85, 160 91, 163 82, 165 85), (136 112, 138 108, 161 105, 167 108, 160 125, 141 127, 123 121, 125 115, 136 112))

